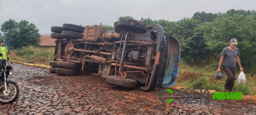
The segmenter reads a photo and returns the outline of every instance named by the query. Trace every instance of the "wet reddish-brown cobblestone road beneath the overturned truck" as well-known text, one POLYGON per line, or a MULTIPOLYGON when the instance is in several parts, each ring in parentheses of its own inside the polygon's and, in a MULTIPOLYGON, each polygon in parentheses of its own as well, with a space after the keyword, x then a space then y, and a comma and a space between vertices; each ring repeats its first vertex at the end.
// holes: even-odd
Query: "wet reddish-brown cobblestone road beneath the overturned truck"
MULTIPOLYGON (((210 104, 163 104, 160 90, 128 91, 93 75, 58 76, 47 69, 13 64, 20 94, 0 104, 0 115, 255 115, 256 104, 210 100, 210 104)), ((176 92, 175 92, 176 93, 176 92)))

